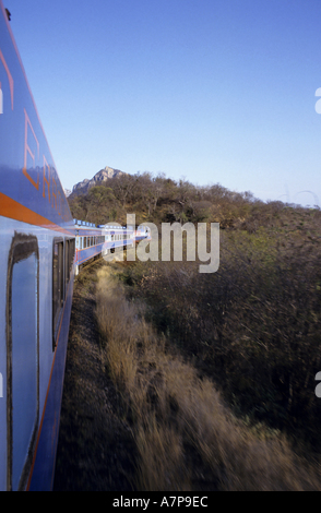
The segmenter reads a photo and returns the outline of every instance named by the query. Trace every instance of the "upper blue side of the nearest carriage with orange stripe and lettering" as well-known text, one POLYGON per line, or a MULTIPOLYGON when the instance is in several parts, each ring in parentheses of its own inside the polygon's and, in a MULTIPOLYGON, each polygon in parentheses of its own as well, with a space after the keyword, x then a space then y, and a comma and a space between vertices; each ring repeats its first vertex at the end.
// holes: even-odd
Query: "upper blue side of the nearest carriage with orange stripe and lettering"
POLYGON ((0 204, 2 215, 70 229, 55 162, 0 0, 0 204))

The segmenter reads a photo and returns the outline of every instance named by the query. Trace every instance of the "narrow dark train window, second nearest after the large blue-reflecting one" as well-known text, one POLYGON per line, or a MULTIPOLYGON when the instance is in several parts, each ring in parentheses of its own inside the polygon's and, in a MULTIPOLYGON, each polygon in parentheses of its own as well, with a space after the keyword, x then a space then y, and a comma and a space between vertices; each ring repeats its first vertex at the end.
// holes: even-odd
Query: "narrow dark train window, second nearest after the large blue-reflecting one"
POLYGON ((59 321, 63 306, 63 240, 55 239, 52 259, 52 350, 57 345, 59 321))

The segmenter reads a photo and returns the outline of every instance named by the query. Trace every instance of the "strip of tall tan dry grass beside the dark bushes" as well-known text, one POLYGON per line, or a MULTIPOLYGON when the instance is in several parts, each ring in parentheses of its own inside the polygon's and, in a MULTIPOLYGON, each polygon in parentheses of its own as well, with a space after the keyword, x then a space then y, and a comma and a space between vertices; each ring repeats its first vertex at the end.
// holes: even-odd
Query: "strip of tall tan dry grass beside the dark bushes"
POLYGON ((236 420, 213 383, 169 354, 111 269, 98 272, 96 315, 106 366, 132 415, 138 489, 320 490, 317 464, 296 456, 278 432, 236 420))

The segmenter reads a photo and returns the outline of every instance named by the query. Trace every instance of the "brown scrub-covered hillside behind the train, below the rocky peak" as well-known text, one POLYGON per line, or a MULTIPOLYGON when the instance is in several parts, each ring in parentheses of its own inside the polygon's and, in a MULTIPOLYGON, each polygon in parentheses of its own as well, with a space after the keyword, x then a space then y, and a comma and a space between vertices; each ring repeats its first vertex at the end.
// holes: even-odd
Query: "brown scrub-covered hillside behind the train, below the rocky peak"
POLYGON ((124 224, 126 214, 134 212, 138 223, 216 220, 223 228, 246 219, 252 206, 263 205, 250 192, 239 194, 219 184, 195 187, 188 180, 176 182, 148 172, 111 178, 86 195, 73 193, 69 203, 74 218, 96 224, 124 224))

